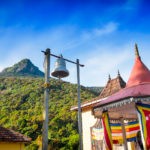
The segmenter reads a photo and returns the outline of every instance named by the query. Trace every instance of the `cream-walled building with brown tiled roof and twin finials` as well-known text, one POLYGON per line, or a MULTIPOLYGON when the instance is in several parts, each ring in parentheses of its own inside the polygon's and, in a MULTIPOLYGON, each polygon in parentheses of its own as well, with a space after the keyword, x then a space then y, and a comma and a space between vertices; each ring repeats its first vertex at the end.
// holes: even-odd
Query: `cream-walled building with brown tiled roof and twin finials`
MULTIPOLYGON (((83 102, 82 107, 82 128, 83 128, 83 149, 94 150, 95 147, 99 149, 101 140, 92 139, 92 131, 101 128, 101 121, 93 115, 93 107, 100 101, 105 101, 107 97, 118 92, 126 86, 125 81, 122 79, 119 71, 116 78, 111 79, 110 75, 108 81, 101 91, 100 95, 90 101, 83 102), (88 119, 87 119, 88 118, 88 119)), ((77 106, 73 106, 71 110, 78 110, 77 106)), ((95 138, 95 137, 93 137, 95 138)), ((103 137, 102 137, 103 138, 103 137)), ((98 138, 99 139, 99 138, 98 138)))

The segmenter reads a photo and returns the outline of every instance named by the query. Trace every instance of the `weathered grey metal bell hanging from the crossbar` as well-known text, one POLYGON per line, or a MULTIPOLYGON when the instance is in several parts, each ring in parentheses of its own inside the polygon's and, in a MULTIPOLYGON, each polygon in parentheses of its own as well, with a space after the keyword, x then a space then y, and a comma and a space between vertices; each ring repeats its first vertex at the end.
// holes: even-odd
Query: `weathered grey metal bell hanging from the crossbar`
POLYGON ((69 75, 69 71, 66 69, 66 63, 62 55, 60 55, 60 58, 57 58, 55 62, 55 69, 51 75, 59 79, 69 75))

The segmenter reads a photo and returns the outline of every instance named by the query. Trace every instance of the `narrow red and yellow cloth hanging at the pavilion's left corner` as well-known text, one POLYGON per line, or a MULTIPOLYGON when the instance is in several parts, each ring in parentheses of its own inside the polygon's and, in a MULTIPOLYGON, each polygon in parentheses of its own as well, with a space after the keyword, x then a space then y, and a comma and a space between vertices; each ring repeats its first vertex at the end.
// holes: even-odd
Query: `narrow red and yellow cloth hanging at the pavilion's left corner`
POLYGON ((103 123, 103 129, 104 129, 104 140, 105 140, 106 150, 112 150, 113 142, 112 142, 112 135, 111 135, 108 111, 103 112, 102 123, 103 123))

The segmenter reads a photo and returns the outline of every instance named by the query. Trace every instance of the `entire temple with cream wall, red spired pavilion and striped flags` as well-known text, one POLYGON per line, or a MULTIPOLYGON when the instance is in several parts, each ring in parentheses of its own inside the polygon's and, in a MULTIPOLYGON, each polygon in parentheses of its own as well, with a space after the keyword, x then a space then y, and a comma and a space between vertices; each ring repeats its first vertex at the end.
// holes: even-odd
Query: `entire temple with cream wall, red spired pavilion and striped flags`
MULTIPOLYGON (((109 76, 100 95, 81 105, 83 149, 136 150, 141 147, 148 150, 149 103, 150 71, 141 60, 135 44, 135 62, 127 83, 119 72, 115 79, 109 76), (108 126, 110 132, 107 132, 108 126)), ((77 110, 77 107, 72 107, 72 110, 77 110)))

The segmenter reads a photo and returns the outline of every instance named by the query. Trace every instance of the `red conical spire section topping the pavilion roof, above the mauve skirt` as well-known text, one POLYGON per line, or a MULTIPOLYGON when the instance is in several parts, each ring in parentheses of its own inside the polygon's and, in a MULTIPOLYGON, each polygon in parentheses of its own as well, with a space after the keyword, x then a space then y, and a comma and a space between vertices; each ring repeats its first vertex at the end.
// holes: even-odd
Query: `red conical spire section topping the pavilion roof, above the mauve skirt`
POLYGON ((132 68, 126 87, 150 82, 150 71, 141 61, 137 45, 135 45, 135 54, 135 63, 132 68))

